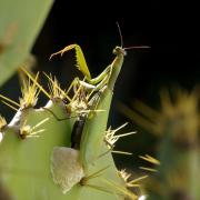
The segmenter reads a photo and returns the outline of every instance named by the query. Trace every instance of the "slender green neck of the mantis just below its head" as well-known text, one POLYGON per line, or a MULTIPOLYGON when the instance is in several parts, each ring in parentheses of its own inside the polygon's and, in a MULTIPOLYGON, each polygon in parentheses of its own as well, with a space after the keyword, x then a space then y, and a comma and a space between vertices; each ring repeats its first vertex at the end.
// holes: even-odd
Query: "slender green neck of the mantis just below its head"
POLYGON ((117 80, 119 72, 121 70, 121 67, 123 64, 123 57, 124 56, 122 53, 117 54, 113 62, 111 63, 112 71, 111 71, 110 80, 108 83, 108 88, 110 90, 113 90, 113 88, 114 88, 116 80, 117 80))

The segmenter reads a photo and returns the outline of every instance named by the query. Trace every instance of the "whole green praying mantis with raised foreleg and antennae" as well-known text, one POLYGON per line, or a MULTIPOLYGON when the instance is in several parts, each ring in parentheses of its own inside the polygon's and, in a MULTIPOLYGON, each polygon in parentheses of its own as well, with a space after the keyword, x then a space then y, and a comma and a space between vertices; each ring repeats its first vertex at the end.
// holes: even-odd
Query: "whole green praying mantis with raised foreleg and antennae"
MULTIPOLYGON (((118 26, 119 28, 119 26, 118 26)), ((107 128, 107 121, 110 110, 110 104, 113 96, 113 88, 116 80, 120 73, 121 67, 123 64, 123 59, 126 56, 126 50, 128 49, 137 49, 137 48, 149 48, 147 46, 142 47, 131 47, 131 48, 123 48, 122 47, 122 36, 121 31, 120 38, 121 38, 121 46, 116 47, 113 49, 113 54, 116 58, 109 64, 106 70, 100 73, 96 78, 91 78, 90 71, 88 69, 83 52, 78 44, 70 44, 67 46, 61 51, 58 51, 53 54, 51 54, 50 59, 57 54, 63 54, 69 50, 74 49, 76 50, 76 58, 77 58, 77 64, 78 69, 82 72, 84 76, 86 81, 74 81, 73 84, 78 84, 78 82, 84 87, 84 89, 88 91, 92 90, 98 91, 93 96, 93 99, 98 98, 98 102, 96 102, 96 109, 101 110, 101 112, 94 112, 92 110, 89 111, 89 113, 86 116, 84 121, 81 124, 83 126, 81 129, 82 132, 81 139, 80 139, 80 160, 83 164, 84 170, 87 171, 89 166, 94 162, 94 160, 100 156, 101 146, 103 142, 103 137, 107 128)), ((92 100, 90 101, 92 103, 92 100)))

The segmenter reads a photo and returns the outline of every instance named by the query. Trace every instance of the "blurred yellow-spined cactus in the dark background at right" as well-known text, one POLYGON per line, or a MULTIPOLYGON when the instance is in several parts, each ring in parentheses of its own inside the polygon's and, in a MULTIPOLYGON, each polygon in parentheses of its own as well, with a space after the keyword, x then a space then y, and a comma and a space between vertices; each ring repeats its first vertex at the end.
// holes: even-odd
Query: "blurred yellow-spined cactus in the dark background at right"
POLYGON ((173 99, 161 90, 161 111, 134 101, 120 110, 133 122, 159 137, 158 173, 148 179, 149 199, 200 199, 199 94, 178 89, 173 99))

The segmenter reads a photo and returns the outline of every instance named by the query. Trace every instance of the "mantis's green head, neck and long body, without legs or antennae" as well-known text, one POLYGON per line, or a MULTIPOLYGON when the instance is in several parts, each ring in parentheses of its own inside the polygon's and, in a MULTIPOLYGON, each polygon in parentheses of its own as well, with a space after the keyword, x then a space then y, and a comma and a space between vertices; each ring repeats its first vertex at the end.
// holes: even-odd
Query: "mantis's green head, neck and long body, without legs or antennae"
POLYGON ((88 169, 89 164, 93 163, 94 160, 100 156, 100 153, 103 153, 100 151, 103 144, 103 138, 107 129, 113 87, 121 70, 124 57, 123 49, 119 47, 114 49, 114 52, 117 52, 117 57, 108 67, 110 69, 109 80, 108 83, 100 90, 100 101, 97 106, 98 110, 104 111, 96 112, 91 118, 89 114, 83 128, 80 144, 80 158, 84 169, 88 169))

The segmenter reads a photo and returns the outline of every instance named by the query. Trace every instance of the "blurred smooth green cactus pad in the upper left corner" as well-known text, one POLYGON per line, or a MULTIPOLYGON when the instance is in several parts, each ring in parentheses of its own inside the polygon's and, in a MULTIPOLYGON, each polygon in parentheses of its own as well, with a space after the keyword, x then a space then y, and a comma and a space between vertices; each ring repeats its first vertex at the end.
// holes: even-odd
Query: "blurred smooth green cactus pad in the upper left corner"
POLYGON ((52 0, 0 1, 0 86, 30 60, 30 50, 52 3, 52 0))

